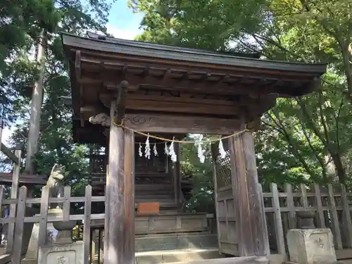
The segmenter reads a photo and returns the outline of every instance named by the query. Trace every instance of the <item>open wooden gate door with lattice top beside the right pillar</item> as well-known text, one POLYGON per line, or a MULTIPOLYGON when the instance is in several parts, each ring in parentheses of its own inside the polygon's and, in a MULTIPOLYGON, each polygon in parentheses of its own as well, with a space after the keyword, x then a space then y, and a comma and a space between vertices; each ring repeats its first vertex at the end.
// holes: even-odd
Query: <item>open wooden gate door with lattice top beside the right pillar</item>
MULTIPOLYGON (((225 142, 224 142, 225 143, 225 142)), ((220 253, 239 256, 237 232, 237 206, 234 200, 234 182, 231 177, 230 151, 224 148, 226 156, 221 157, 218 146, 212 144, 214 162, 214 193, 216 222, 218 225, 218 244, 220 253)))

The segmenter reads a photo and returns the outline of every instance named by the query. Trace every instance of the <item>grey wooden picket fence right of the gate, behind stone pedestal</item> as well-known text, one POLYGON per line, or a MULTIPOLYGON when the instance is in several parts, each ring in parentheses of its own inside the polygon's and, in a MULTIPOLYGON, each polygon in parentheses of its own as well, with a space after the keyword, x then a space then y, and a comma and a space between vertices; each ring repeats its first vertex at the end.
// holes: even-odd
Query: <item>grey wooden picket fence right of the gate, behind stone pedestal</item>
POLYGON ((335 249, 352 249, 351 197, 344 184, 285 184, 282 191, 270 184, 263 192, 270 247, 287 253, 287 231, 300 227, 296 213, 313 211, 315 227, 332 230, 335 249))

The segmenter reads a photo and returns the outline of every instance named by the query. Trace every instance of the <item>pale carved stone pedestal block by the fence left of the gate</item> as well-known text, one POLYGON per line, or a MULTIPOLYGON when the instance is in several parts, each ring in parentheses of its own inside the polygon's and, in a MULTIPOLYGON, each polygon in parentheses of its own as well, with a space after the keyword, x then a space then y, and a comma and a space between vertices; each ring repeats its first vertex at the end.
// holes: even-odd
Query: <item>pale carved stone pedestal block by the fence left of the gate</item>
POLYGON ((38 252, 38 264, 83 264, 83 242, 71 244, 52 244, 41 246, 38 252))

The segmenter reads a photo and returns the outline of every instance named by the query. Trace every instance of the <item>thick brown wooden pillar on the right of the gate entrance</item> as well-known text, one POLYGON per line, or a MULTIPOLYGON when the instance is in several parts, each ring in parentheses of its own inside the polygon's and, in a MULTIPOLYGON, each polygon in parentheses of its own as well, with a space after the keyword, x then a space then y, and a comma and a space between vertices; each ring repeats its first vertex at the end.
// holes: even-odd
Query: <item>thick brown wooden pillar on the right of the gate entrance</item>
POLYGON ((234 197, 237 201, 240 256, 268 256, 268 230, 263 194, 258 182, 256 155, 251 132, 230 138, 234 197))

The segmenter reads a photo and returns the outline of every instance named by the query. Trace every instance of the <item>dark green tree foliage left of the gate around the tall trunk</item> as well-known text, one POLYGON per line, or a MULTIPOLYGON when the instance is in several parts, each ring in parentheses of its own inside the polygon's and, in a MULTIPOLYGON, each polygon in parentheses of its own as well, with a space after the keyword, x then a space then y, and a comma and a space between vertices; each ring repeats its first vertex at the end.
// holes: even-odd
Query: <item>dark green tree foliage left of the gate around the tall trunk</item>
MULTIPOLYGON (((11 4, 9 1, 5 2, 6 8, 0 11, 0 22, 2 25, 8 24, 6 28, 0 27, 0 38, 4 41, 0 42, 0 59, 4 61, 4 67, 0 68, 1 114, 9 121, 14 121, 15 118, 23 121, 13 134, 13 145, 22 142, 23 149, 26 148, 30 99, 39 66, 33 63, 32 51, 44 31, 47 33, 44 97, 39 151, 34 158, 35 168, 37 174, 49 175, 55 163, 65 165, 66 184, 71 185, 73 194, 83 195, 84 186, 88 183, 82 176, 87 173, 88 168, 87 158, 84 157, 87 147, 73 142, 71 110, 65 106, 62 99, 62 96, 70 96, 70 80, 58 32, 105 32, 104 25, 111 4, 106 0, 28 0, 11 4), (12 27, 15 27, 15 30, 11 31, 12 27), (8 35, 9 33, 11 34, 8 35)), ((35 190, 34 195, 39 195, 39 191, 35 190)))

